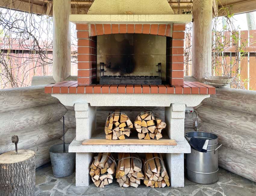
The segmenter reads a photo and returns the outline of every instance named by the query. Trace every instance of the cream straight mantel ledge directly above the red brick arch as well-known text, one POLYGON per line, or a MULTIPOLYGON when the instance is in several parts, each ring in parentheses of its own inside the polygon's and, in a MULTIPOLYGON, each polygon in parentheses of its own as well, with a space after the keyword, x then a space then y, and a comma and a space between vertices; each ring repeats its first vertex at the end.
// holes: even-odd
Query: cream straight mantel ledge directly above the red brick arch
POLYGON ((190 23, 192 14, 70 14, 72 23, 171 24, 190 23))

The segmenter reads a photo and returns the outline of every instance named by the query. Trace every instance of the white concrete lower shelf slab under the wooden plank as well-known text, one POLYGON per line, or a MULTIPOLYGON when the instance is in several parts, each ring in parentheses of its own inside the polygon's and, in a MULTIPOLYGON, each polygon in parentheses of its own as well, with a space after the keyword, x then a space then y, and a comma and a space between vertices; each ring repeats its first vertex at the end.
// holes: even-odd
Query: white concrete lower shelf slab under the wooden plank
POLYGON ((89 152, 130 152, 130 153, 190 153, 189 143, 184 140, 177 142, 176 146, 172 145, 82 145, 83 141, 75 139, 69 145, 69 152, 89 153, 89 152))

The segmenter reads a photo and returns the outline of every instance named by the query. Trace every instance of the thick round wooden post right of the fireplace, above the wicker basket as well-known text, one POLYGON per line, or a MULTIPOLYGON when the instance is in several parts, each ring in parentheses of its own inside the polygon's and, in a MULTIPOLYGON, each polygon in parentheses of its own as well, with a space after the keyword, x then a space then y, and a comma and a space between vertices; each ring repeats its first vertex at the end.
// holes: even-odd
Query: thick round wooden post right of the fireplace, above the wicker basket
POLYGON ((204 82, 211 75, 212 0, 193 1, 193 20, 192 76, 204 82))

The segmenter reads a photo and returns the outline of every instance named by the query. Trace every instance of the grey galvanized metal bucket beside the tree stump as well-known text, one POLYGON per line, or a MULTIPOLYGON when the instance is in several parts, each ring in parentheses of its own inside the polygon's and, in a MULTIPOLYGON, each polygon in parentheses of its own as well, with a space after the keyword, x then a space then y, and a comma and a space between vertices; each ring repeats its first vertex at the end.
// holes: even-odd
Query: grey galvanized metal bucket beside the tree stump
POLYGON ((68 152, 69 145, 65 144, 65 152, 63 152, 63 144, 54 145, 49 149, 54 176, 65 177, 74 172, 76 153, 68 152))

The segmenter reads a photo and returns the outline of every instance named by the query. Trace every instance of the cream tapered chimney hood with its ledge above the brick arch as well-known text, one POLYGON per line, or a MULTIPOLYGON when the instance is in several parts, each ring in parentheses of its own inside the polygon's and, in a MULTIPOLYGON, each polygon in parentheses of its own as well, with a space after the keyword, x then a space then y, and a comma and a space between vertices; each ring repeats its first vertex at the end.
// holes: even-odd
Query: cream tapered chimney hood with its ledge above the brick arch
POLYGON ((70 14, 73 23, 189 23, 192 14, 173 14, 167 0, 95 0, 87 14, 70 14))

